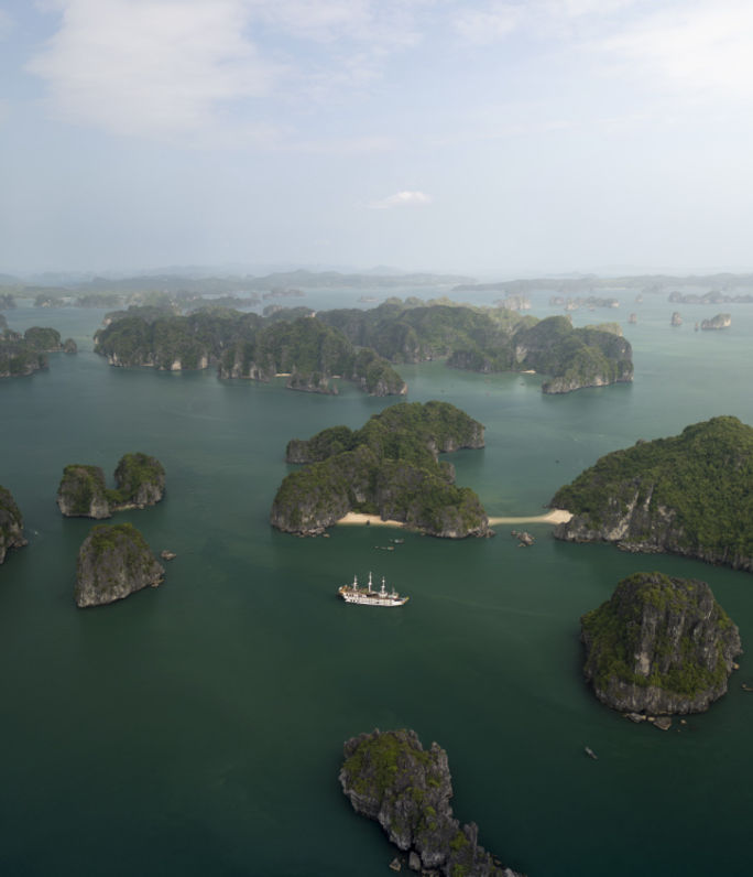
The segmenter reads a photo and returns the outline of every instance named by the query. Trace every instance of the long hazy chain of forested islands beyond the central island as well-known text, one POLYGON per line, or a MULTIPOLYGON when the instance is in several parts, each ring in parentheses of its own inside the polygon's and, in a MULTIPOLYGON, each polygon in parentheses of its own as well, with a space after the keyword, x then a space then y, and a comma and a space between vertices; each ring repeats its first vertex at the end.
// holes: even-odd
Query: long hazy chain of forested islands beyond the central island
POLYGON ((546 393, 633 379, 631 345, 614 324, 574 328, 566 316, 537 320, 506 307, 391 299, 369 311, 276 308, 266 317, 129 308, 107 322, 95 350, 110 365, 214 366, 220 378, 264 381, 285 375, 291 389, 313 392, 336 392, 331 379, 340 376, 372 394, 404 393, 393 366, 432 359, 482 373, 543 372, 546 393))

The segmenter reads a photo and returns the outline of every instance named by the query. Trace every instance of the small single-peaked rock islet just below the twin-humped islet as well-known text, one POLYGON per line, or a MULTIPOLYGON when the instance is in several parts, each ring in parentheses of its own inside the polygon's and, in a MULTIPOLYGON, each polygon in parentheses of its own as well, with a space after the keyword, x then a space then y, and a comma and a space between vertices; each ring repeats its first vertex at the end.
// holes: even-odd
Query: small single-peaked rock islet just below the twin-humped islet
POLYGON ((97 524, 78 552, 76 605, 85 608, 114 603, 144 587, 156 587, 164 574, 132 524, 97 524))

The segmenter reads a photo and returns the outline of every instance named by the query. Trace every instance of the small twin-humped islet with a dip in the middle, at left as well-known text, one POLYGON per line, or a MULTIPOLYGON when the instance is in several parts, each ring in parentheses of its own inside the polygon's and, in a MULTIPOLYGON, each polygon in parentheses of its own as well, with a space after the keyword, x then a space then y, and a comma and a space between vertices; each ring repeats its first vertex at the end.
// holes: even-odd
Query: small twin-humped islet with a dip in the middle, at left
POLYGON ((165 470, 156 457, 124 454, 114 472, 116 489, 99 466, 70 464, 63 470, 57 505, 67 518, 110 518, 116 511, 154 506, 164 496, 165 470))

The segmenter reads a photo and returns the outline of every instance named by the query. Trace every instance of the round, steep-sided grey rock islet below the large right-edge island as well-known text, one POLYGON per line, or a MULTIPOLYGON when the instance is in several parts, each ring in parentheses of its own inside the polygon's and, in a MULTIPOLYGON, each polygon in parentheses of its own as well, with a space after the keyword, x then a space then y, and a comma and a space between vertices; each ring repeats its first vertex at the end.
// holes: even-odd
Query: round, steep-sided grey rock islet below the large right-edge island
POLYGON ((583 674, 614 710, 700 713, 727 692, 738 628, 705 582, 636 573, 581 618, 583 674))

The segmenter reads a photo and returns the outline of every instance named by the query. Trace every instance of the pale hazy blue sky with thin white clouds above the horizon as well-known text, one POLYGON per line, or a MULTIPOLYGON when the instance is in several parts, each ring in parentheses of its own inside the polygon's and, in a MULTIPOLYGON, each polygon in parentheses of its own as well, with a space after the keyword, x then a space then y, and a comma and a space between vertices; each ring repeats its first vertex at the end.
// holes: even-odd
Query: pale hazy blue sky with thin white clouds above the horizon
POLYGON ((753 267, 751 0, 0 0, 0 271, 753 267))

